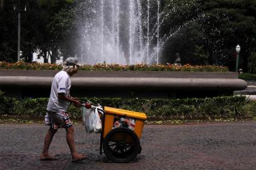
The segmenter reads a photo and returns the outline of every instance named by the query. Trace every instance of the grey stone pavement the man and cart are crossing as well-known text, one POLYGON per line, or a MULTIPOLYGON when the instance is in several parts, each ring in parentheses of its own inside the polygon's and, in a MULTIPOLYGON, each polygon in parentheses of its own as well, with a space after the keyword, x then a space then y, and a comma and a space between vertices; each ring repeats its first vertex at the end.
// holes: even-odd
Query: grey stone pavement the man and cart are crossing
POLYGON ((256 169, 256 122, 145 125, 136 160, 104 162, 100 134, 74 125, 76 148, 90 158, 71 163, 60 129, 50 153, 57 161, 39 161, 47 127, 43 124, 0 125, 0 169, 256 169))

